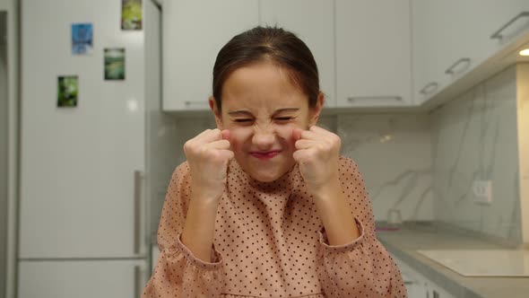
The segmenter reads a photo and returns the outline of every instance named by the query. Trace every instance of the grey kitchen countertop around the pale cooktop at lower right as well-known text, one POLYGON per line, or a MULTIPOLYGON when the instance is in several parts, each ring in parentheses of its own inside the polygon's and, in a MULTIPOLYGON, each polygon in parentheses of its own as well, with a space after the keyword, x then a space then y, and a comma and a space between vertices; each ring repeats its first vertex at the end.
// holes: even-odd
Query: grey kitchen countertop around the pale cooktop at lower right
MULTIPOLYGON (((377 223, 377 227, 382 224, 377 223)), ((377 231, 395 258, 458 298, 527 298, 529 277, 465 277, 421 255, 417 250, 505 250, 503 245, 436 223, 404 223, 397 231, 377 231)))

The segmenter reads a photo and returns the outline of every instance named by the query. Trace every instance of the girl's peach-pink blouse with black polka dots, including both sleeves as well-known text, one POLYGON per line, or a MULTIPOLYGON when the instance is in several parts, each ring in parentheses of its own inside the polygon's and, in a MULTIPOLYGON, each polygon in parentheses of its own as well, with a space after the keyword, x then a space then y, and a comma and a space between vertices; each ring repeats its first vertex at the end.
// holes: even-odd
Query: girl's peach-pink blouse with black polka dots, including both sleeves
POLYGON ((229 164, 212 263, 180 241, 190 195, 187 162, 172 175, 158 230, 160 258, 143 298, 406 297, 395 262, 377 241, 372 207, 357 165, 340 158, 340 179, 360 237, 328 244, 298 166, 273 182, 229 164))

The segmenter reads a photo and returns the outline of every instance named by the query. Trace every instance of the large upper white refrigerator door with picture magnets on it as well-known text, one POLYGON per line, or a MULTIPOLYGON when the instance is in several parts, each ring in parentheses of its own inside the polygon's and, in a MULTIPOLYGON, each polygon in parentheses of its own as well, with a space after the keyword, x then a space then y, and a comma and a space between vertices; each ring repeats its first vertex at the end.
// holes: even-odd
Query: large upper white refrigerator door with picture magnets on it
POLYGON ((143 31, 121 31, 119 1, 82 3, 22 2, 22 259, 145 250, 143 31), (72 54, 76 22, 92 22, 91 55, 72 54), (106 47, 125 48, 125 80, 104 80, 106 47), (77 107, 57 107, 60 75, 77 75, 77 107))

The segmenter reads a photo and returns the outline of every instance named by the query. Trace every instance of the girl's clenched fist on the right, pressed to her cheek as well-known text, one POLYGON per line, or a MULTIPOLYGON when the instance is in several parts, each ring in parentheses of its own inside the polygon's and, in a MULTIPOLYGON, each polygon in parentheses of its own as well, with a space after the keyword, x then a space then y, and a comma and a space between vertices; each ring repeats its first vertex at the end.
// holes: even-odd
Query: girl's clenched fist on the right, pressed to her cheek
POLYGON ((308 130, 294 128, 292 137, 296 141, 293 157, 299 163, 299 171, 308 190, 314 195, 325 189, 339 187, 340 136, 313 126, 308 130))

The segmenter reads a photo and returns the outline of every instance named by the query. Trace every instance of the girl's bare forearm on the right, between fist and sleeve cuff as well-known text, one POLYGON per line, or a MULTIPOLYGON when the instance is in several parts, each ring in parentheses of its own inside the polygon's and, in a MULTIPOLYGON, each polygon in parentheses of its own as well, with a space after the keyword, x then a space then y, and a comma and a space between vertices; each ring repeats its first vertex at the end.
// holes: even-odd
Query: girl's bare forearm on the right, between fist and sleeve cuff
POLYGON ((342 245, 360 237, 339 181, 319 189, 313 197, 330 245, 342 245))

